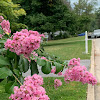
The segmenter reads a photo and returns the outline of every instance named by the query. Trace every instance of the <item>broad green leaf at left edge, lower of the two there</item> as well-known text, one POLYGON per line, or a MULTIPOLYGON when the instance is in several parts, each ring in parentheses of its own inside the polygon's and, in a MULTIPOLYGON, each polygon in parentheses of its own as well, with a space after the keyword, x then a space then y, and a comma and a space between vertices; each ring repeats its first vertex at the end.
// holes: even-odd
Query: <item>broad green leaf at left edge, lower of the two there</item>
POLYGON ((0 79, 4 79, 7 76, 12 76, 12 75, 13 75, 12 71, 7 67, 0 68, 0 79))

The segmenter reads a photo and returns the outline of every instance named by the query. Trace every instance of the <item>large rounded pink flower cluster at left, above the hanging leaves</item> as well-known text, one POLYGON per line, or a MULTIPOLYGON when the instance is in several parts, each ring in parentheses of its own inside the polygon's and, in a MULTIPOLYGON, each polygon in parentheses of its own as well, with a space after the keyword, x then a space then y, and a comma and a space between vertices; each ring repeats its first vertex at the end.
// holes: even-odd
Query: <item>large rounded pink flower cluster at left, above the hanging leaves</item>
POLYGON ((14 33, 12 40, 6 41, 5 49, 9 49, 17 55, 24 54, 25 57, 29 57, 33 50, 40 47, 40 42, 41 35, 37 31, 22 29, 22 31, 14 33))

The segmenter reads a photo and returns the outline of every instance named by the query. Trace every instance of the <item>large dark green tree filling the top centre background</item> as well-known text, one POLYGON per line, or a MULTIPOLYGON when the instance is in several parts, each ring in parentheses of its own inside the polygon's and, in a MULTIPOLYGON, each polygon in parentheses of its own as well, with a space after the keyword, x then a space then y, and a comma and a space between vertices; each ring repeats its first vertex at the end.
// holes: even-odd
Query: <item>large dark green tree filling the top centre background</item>
POLYGON ((26 10, 27 15, 20 17, 29 29, 39 32, 55 32, 58 30, 74 31, 75 18, 62 0, 23 0, 21 6, 26 10))

